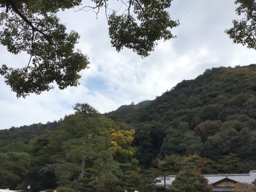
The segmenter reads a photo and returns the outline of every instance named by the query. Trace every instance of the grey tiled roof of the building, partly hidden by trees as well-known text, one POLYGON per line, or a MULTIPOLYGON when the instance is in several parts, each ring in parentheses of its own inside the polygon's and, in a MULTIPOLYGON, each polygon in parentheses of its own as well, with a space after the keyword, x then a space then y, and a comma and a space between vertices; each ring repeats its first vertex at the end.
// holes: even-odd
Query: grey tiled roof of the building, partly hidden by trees
MULTIPOLYGON (((166 185, 171 185, 173 180, 175 180, 176 175, 169 175, 166 176, 165 182, 166 185)), ((218 182, 222 179, 228 178, 231 180, 234 180, 236 182, 241 183, 248 183, 252 184, 252 182, 256 179, 256 170, 250 171, 250 173, 244 173, 244 174, 216 174, 216 175, 204 175, 205 179, 208 180, 209 184, 214 184, 215 182, 218 182)), ((157 180, 160 180, 160 182, 157 182, 157 186, 164 186, 164 178, 163 176, 157 177, 157 180)))

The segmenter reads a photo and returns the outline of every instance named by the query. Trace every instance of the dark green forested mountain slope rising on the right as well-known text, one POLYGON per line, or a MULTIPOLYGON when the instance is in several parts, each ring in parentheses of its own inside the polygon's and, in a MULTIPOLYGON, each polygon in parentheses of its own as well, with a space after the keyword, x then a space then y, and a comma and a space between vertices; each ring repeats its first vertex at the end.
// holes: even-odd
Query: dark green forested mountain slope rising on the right
MULTIPOLYGON (((198 154, 246 172, 256 168, 256 65, 212 68, 129 115, 136 157, 146 168, 166 156, 198 154)), ((125 118, 124 120, 127 120, 125 118)))

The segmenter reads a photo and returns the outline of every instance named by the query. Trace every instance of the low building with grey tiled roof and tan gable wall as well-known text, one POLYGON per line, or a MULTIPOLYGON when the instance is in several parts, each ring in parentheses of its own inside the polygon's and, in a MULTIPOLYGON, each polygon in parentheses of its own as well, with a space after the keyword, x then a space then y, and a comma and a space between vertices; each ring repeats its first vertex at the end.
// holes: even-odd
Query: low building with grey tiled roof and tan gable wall
MULTIPOLYGON (((173 180, 175 180, 176 175, 168 175, 165 177, 165 186, 172 185, 173 180)), ((250 173, 244 174, 216 174, 216 175, 204 175, 208 180, 208 184, 211 184, 213 191, 236 191, 235 188, 237 184, 252 184, 256 179, 256 170, 250 171, 250 173)), ((156 185, 164 187, 164 177, 157 177, 156 185)))

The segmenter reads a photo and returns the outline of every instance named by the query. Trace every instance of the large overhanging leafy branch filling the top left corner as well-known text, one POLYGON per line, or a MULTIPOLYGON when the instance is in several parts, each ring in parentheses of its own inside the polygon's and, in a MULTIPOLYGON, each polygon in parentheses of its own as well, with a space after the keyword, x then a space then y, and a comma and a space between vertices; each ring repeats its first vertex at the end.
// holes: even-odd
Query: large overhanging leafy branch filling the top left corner
POLYGON ((86 68, 88 58, 75 45, 79 35, 66 32, 56 12, 79 5, 80 1, 0 1, 1 44, 9 52, 30 55, 27 65, 12 68, 3 65, 0 74, 17 97, 40 94, 56 83, 60 89, 77 86, 78 72, 86 68))

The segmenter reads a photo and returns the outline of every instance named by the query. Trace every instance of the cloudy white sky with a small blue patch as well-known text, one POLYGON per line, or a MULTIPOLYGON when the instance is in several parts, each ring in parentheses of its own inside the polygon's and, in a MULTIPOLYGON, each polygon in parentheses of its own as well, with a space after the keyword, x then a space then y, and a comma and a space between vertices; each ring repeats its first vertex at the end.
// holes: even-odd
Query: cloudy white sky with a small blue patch
MULTIPOLYGON (((59 13, 67 30, 81 35, 77 48, 90 58, 90 68, 83 70, 80 85, 65 90, 54 88, 41 95, 17 99, 0 76, 0 129, 60 120, 74 113, 76 103, 88 103, 100 113, 124 104, 153 100, 184 79, 195 79, 205 69, 234 67, 256 63, 256 51, 233 44, 225 34, 232 20, 239 18, 233 0, 174 0, 172 19, 180 26, 172 29, 177 38, 159 41, 147 58, 128 49, 116 52, 111 47, 104 12, 59 13)), ((102 10, 103 11, 103 10, 102 10)), ((13 55, 0 45, 0 65, 23 67, 26 54, 13 55)))

